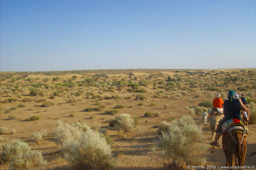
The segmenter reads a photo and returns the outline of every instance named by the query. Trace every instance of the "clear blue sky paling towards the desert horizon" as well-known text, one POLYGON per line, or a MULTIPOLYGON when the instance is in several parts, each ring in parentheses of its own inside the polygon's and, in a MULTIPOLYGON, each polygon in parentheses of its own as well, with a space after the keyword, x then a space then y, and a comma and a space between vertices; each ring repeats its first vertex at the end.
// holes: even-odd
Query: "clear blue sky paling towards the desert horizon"
POLYGON ((255 0, 1 0, 0 71, 255 68, 255 0))

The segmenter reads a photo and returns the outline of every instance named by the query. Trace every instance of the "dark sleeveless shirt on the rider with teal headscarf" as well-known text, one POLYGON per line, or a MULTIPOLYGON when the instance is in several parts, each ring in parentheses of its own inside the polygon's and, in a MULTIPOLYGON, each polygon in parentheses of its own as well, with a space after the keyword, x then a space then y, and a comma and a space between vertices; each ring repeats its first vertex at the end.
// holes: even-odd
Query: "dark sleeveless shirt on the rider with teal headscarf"
MULTIPOLYGON (((234 99, 234 98, 233 98, 234 99)), ((240 112, 240 102, 239 99, 235 99, 232 102, 230 101, 230 99, 224 101, 224 110, 225 110, 225 120, 229 120, 229 119, 241 119, 241 112, 240 112)))

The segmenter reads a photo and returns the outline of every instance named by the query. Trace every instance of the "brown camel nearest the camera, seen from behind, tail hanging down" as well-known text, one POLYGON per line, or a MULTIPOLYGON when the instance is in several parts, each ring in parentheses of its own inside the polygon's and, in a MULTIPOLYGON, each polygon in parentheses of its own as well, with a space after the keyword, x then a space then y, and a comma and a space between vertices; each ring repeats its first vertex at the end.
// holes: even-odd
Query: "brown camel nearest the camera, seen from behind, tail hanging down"
POLYGON ((238 159, 238 166, 244 166, 247 151, 246 134, 243 137, 243 132, 239 130, 235 130, 231 132, 231 134, 233 137, 229 132, 222 137, 222 147, 226 156, 226 166, 235 166, 236 159, 238 159))

